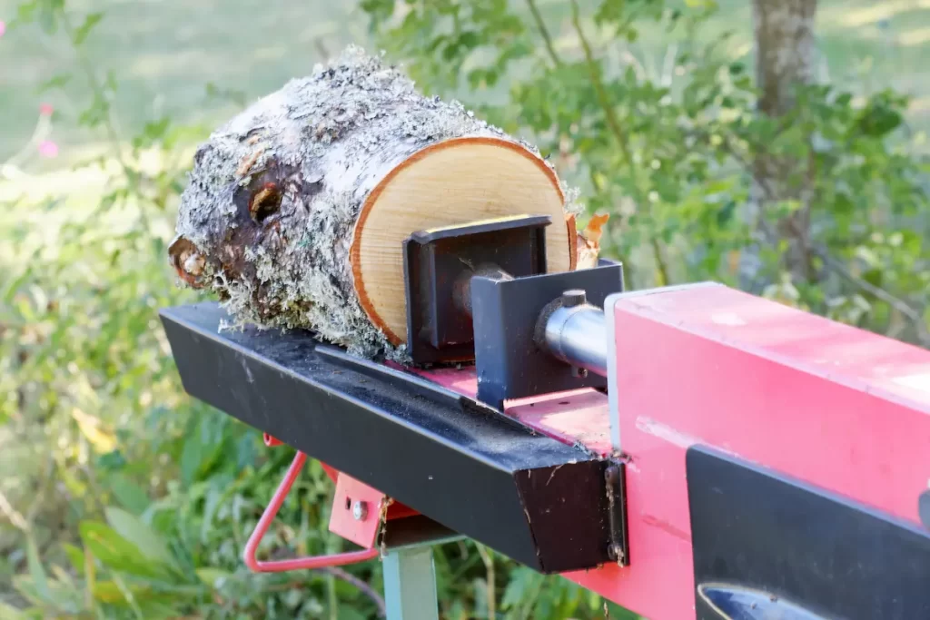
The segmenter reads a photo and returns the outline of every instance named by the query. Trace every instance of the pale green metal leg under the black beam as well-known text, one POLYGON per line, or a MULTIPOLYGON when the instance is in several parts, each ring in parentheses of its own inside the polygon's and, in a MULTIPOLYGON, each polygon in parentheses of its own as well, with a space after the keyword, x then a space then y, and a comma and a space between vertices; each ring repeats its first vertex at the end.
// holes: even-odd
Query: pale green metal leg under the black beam
POLYGON ((392 549, 383 566, 388 620, 439 620, 432 547, 392 549))

